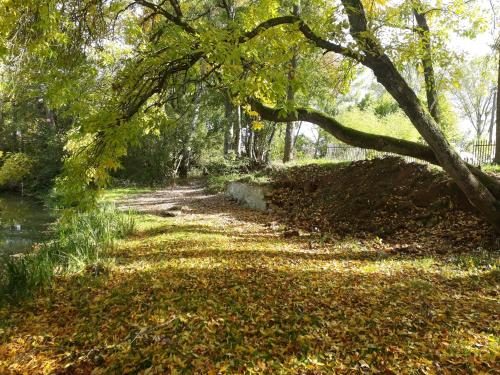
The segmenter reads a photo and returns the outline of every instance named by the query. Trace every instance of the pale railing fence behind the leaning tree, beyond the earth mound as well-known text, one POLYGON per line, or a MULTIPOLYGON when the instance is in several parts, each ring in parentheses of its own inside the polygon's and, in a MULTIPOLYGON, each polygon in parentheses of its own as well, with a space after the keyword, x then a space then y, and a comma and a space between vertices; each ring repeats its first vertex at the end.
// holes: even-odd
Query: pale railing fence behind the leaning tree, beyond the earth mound
MULTIPOLYGON (((407 162, 425 163, 427 162, 412 158, 409 156, 401 156, 390 152, 381 152, 369 150, 360 147, 352 147, 344 144, 335 144, 328 146, 327 158, 337 161, 356 161, 381 158, 384 156, 399 156, 407 162)), ((495 156, 495 144, 487 141, 474 143, 471 147, 471 152, 461 152, 460 156, 466 162, 474 165, 491 164, 495 156)))

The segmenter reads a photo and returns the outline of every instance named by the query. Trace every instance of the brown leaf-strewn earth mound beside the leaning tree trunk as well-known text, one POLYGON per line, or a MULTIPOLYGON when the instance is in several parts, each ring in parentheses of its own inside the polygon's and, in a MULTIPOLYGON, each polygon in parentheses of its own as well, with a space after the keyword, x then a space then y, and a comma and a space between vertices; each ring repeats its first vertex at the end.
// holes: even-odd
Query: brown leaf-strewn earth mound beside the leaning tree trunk
POLYGON ((493 249, 497 239, 443 172, 390 157, 279 172, 271 208, 291 226, 378 236, 400 251, 493 249))

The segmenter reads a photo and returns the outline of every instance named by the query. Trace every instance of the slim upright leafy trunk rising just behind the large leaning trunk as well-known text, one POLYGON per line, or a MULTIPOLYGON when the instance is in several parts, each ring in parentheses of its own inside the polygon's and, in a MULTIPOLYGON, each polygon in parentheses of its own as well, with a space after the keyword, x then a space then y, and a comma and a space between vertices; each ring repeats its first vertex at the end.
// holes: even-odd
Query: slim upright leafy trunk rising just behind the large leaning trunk
MULTIPOLYGON (((421 5, 418 3, 418 5, 421 5)), ((434 120, 441 124, 441 111, 439 107, 439 97, 436 87, 436 76, 434 74, 434 64, 432 61, 432 44, 429 24, 425 13, 421 13, 419 9, 414 8, 413 14, 418 25, 418 34, 422 42, 423 55, 422 67, 424 68, 425 79, 425 94, 427 96, 427 108, 434 120)))

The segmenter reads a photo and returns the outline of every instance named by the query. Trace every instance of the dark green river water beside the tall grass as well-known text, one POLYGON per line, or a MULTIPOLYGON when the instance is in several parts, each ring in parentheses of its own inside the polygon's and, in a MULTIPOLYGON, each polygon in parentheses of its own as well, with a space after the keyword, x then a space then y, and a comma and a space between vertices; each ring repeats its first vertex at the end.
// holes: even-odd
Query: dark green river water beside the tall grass
POLYGON ((34 243, 47 238, 53 220, 50 211, 39 201, 1 193, 0 255, 30 250, 34 243))

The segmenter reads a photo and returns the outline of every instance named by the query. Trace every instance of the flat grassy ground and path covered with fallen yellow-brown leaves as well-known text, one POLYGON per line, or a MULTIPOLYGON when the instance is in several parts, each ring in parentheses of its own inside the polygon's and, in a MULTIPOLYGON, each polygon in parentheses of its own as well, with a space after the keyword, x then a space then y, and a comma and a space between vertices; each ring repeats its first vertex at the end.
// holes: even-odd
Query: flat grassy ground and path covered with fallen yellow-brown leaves
POLYGON ((109 267, 0 310, 0 373, 498 373, 497 255, 286 238, 193 188, 127 204, 174 203, 109 267))

